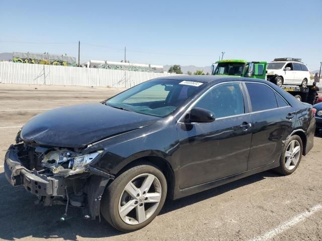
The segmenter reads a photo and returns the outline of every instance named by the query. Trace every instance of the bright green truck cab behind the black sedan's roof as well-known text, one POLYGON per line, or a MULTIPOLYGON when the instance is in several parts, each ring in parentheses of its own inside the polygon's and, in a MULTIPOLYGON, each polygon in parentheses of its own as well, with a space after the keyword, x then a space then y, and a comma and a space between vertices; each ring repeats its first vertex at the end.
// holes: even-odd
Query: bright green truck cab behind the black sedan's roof
POLYGON ((266 66, 265 61, 219 60, 211 65, 211 74, 266 79, 266 66))

